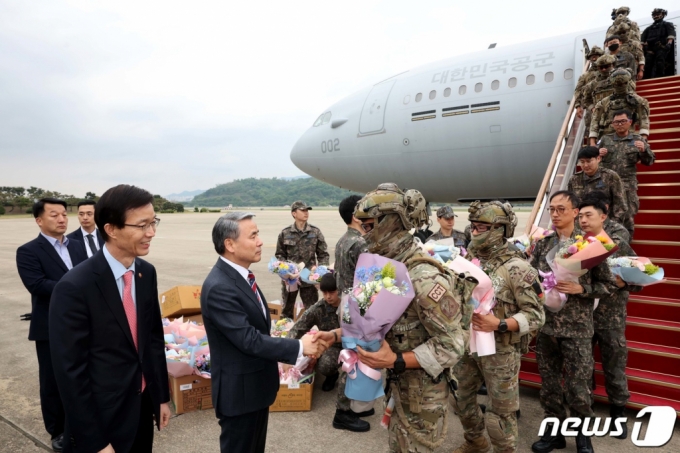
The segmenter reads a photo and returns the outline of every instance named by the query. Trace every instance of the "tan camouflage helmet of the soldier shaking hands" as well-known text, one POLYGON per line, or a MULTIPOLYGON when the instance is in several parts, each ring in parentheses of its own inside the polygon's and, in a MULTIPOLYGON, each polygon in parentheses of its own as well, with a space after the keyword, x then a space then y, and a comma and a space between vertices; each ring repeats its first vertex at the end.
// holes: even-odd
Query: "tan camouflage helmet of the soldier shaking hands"
POLYGON ((377 219, 387 214, 399 214, 406 230, 420 228, 429 223, 425 197, 414 189, 403 192, 399 187, 386 182, 359 200, 354 211, 357 219, 377 219))

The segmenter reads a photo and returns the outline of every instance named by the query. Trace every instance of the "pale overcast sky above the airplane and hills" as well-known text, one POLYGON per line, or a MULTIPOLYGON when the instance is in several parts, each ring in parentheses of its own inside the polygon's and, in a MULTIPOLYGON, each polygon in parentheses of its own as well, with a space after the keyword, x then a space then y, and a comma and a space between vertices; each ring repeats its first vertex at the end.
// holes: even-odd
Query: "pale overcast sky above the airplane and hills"
POLYGON ((339 99, 492 42, 607 26, 615 6, 2 0, 0 185, 168 194, 300 175, 290 149, 339 99))

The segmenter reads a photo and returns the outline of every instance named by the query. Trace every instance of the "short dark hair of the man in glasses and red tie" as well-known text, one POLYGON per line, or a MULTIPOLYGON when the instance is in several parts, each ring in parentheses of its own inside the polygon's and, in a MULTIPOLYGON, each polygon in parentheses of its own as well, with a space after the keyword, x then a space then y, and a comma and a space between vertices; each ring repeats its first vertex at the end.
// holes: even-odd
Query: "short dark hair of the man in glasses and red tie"
POLYGON ((148 204, 153 204, 153 195, 146 190, 131 186, 129 184, 119 184, 111 187, 99 198, 97 209, 94 212, 94 223, 99 228, 99 234, 104 238, 104 242, 109 240, 104 225, 125 227, 125 216, 130 209, 137 209, 148 204))

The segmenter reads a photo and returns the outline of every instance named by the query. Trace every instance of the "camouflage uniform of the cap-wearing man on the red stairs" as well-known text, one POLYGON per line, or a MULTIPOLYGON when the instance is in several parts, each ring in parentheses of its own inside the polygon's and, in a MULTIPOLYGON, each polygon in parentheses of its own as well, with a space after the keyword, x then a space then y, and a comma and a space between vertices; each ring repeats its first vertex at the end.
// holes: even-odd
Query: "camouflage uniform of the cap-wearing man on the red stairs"
POLYGON ((616 172, 621 178, 623 189, 626 191, 628 215, 623 219, 623 224, 632 238, 635 232, 634 218, 640 208, 640 199, 637 193, 637 163, 654 164, 654 153, 649 144, 637 134, 628 134, 625 137, 619 137, 615 133, 607 134, 602 137, 599 147, 607 149, 607 154, 602 157, 600 167, 616 172), (634 142, 638 140, 645 144, 643 153, 634 145, 634 142))

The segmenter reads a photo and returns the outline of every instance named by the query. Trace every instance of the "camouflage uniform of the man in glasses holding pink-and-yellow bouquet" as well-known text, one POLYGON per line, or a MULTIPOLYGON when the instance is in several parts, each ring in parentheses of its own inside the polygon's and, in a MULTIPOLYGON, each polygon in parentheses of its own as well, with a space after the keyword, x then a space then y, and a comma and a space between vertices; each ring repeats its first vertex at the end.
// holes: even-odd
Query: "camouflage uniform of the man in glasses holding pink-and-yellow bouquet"
MULTIPOLYGON (((581 234, 574 229, 571 237, 581 234)), ((536 243, 531 265, 543 272, 551 272, 547 253, 559 244, 556 234, 536 243)), ((593 375, 593 304, 594 299, 607 297, 616 285, 609 267, 602 263, 579 278, 585 293, 567 295, 562 310, 546 310, 545 325, 536 339, 536 359, 541 374, 541 407, 545 417, 567 417, 564 400, 571 417, 593 417, 590 391, 593 375), (563 384, 564 379, 564 384, 563 384), (565 395, 566 394, 566 395, 565 395)))

